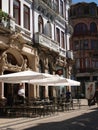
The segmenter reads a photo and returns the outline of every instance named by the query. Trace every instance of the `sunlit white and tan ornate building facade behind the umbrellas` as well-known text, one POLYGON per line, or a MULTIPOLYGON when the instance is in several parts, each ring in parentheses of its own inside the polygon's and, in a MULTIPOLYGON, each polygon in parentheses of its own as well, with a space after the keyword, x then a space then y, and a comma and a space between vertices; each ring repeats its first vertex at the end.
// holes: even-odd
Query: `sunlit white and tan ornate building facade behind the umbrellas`
MULTIPOLYGON (((68 0, 0 0, 0 74, 33 70, 70 78, 69 7, 68 0)), ((15 96, 17 86, 0 83, 0 99, 15 96)), ((30 98, 57 94, 53 86, 24 89, 30 98)))

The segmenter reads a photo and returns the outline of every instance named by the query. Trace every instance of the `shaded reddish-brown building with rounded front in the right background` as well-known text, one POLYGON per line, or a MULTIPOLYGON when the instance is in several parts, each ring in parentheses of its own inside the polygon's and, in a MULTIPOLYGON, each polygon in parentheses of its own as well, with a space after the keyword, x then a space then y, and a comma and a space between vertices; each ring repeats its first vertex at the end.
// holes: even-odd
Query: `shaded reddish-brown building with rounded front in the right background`
POLYGON ((85 94, 86 82, 98 82, 98 6, 95 3, 77 3, 69 11, 74 29, 70 39, 74 52, 74 74, 85 94))

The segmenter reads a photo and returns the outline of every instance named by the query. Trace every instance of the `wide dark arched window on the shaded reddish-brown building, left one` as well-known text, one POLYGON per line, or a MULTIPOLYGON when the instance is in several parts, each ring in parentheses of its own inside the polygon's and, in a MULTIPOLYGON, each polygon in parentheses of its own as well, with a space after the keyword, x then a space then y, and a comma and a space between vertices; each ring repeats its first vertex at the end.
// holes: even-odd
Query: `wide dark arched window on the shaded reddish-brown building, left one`
POLYGON ((79 23, 74 28, 74 33, 85 33, 88 31, 87 25, 84 23, 79 23))

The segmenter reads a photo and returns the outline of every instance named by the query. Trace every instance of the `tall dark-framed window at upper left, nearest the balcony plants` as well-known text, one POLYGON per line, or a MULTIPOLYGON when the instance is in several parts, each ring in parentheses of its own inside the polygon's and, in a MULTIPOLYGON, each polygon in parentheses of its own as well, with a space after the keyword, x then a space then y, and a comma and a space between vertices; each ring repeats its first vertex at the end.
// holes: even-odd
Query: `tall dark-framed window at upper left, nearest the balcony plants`
POLYGON ((15 18, 16 23, 20 25, 20 2, 19 2, 19 0, 14 0, 13 17, 15 18))

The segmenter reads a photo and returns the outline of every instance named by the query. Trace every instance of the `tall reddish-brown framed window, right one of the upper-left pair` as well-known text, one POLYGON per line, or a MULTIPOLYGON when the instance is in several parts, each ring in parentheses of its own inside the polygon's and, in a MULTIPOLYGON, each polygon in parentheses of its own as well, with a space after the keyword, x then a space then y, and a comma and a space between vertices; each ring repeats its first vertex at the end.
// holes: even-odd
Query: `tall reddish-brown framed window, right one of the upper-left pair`
POLYGON ((30 9, 24 5, 24 28, 30 30, 30 9))

